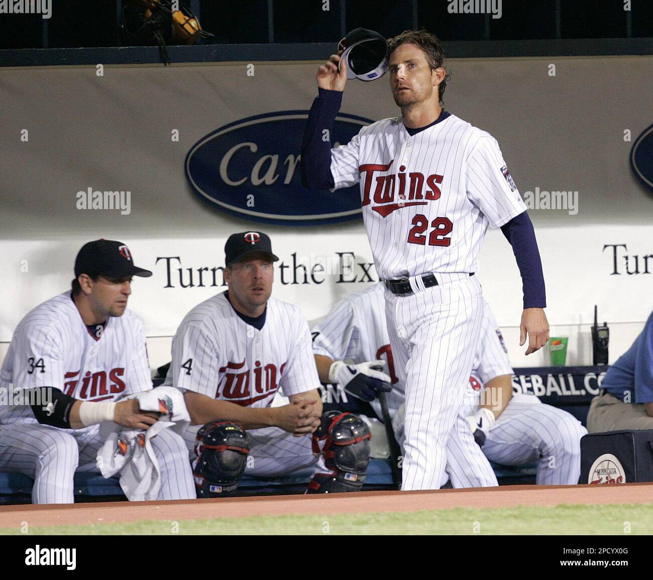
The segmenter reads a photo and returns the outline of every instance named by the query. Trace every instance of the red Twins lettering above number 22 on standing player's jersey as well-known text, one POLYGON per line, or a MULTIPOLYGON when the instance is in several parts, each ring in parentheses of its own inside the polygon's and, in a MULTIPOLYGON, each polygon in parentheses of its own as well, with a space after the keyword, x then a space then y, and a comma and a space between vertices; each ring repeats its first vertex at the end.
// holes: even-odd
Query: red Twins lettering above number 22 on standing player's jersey
POLYGON ((406 197, 406 165, 399 167, 399 173, 394 174, 381 174, 387 172, 392 166, 392 162, 387 165, 379 165, 376 163, 366 163, 360 165, 358 170, 360 174, 365 174, 365 182, 363 186, 363 201, 362 206, 369 205, 374 200, 374 207, 372 211, 377 212, 381 217, 387 217, 392 212, 405 208, 407 206, 426 205, 428 201, 439 199, 441 191, 438 184, 442 183, 443 176, 432 174, 424 176, 423 173, 411 172, 408 174, 409 189, 408 196, 406 197), (398 180, 398 192, 400 196, 399 202, 394 202, 394 184, 398 180), (372 196, 372 183, 375 182, 374 196, 372 196), (428 188, 424 191, 424 182, 428 188), (408 201, 406 201, 406 199, 408 201), (410 201, 410 200, 425 200, 425 201, 410 201))

